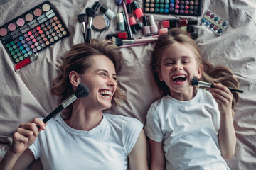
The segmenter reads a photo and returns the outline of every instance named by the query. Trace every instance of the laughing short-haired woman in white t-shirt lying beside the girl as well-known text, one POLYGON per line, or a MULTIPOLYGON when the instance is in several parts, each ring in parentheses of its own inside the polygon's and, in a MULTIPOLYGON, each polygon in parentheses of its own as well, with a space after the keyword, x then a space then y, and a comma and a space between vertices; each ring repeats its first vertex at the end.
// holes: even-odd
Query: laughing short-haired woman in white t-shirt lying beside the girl
POLYGON ((73 102, 65 117, 57 115, 49 120, 47 130, 38 118, 21 124, 0 163, 1 169, 26 169, 40 158, 43 169, 126 170, 129 166, 146 170, 142 123, 104 113, 112 106, 112 99, 119 103, 124 98, 117 86, 121 62, 122 52, 109 40, 75 45, 65 55, 52 91, 60 96, 60 103, 80 83, 87 85, 90 94, 73 102))

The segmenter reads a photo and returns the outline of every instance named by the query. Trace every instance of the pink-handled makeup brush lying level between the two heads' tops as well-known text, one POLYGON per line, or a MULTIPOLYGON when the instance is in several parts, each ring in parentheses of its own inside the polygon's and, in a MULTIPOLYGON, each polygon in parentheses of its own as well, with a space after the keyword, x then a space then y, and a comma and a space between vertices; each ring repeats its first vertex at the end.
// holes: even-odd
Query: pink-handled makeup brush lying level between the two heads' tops
POLYGON ((155 42, 157 38, 142 38, 142 39, 135 39, 135 40, 122 40, 120 38, 112 37, 112 41, 114 45, 121 46, 121 45, 128 45, 128 44, 137 44, 143 42, 155 42))

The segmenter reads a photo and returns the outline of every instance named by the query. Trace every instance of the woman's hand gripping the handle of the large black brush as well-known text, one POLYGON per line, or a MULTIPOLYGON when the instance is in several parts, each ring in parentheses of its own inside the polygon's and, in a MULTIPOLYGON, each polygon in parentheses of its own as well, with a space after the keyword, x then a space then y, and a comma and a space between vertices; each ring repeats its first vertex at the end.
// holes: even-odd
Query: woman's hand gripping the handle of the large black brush
POLYGON ((14 133, 11 152, 22 154, 38 137, 41 130, 46 130, 46 124, 43 120, 35 118, 31 123, 21 123, 18 130, 14 133), (38 129, 36 125, 39 125, 38 129))

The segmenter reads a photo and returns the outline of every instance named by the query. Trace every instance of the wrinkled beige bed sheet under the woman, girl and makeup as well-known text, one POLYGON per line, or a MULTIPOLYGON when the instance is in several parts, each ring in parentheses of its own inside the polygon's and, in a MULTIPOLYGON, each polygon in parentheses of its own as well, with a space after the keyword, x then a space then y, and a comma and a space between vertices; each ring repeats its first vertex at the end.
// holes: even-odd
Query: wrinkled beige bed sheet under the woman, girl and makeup
MULTIPOLYGON (((43 1, 11 0, 0 6, 0 26, 41 2, 43 1)), ((50 0, 70 31, 70 36, 39 52, 38 60, 28 64, 19 72, 14 72, 14 63, 3 43, 0 43, 0 139, 10 140, 20 123, 31 121, 36 117, 44 117, 58 106, 58 98, 50 93, 51 82, 57 74, 57 66, 65 52, 73 45, 83 42, 82 26, 77 16, 85 13, 85 8, 92 6, 94 2, 92 0, 50 0)), ((122 6, 114 4, 114 0, 100 2, 115 13, 124 10, 122 6)), ((154 15, 154 18, 159 28, 162 28, 161 22, 171 18, 201 21, 203 13, 210 9, 229 22, 229 26, 220 36, 198 23, 196 42, 203 59, 232 69, 240 83, 239 88, 244 91, 240 94, 240 101, 235 107, 234 125, 237 146, 234 157, 227 160, 228 165, 231 169, 256 169, 256 1, 206 0, 202 2, 201 16, 154 15)), ((142 7, 143 1, 139 0, 138 4, 142 7)), ((103 32, 92 30, 92 38, 104 40, 107 34, 117 33, 116 22, 114 18, 110 28, 103 32)), ((134 38, 142 35, 142 30, 139 30, 134 38)), ((121 49, 124 55, 124 67, 119 74, 119 82, 120 89, 126 94, 127 100, 123 101, 122 106, 112 108, 114 113, 138 118, 144 124, 149 106, 161 97, 151 74, 153 47, 154 43, 149 43, 121 49)))

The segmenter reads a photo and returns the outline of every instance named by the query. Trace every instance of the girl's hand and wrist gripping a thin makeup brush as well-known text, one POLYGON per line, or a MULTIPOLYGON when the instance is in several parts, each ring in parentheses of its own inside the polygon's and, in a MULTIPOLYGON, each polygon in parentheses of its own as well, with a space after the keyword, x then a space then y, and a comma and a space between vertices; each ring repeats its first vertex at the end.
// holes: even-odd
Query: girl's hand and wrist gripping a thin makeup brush
POLYGON ((222 84, 214 84, 215 88, 210 88, 210 93, 218 103, 218 108, 221 114, 232 115, 232 100, 233 94, 231 91, 222 84))

